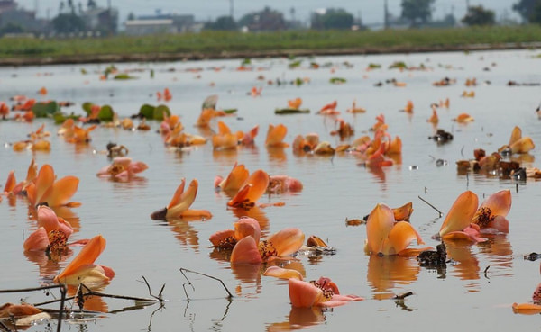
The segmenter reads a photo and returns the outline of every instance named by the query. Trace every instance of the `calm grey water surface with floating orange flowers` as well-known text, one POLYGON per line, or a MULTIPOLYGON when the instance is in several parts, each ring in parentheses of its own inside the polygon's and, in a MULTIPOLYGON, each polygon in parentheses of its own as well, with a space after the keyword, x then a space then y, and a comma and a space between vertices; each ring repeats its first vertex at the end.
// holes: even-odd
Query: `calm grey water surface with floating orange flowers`
MULTIPOLYGON (((41 86, 49 89, 48 99, 69 100, 76 105, 66 112, 82 113, 80 104, 91 101, 108 103, 121 116, 138 112, 142 103, 156 103, 155 92, 169 87, 173 99, 168 103, 173 113, 189 133, 208 135, 192 127, 203 99, 218 94, 218 107, 238 108, 237 115, 224 121, 232 130, 249 130, 260 125, 255 148, 240 148, 236 152, 213 151, 210 144, 179 153, 165 148, 155 132, 158 122, 151 122, 150 131, 126 131, 98 128, 87 145, 76 146, 55 135, 58 127, 49 120, 31 124, 0 121, 0 142, 14 142, 45 123, 52 133, 50 153, 30 151, 15 153, 11 148, 0 149, 0 181, 4 183, 10 170, 23 179, 32 157, 41 166, 50 164, 59 176, 77 175, 78 192, 73 199, 82 202, 78 208, 64 211, 77 229, 72 238, 91 238, 102 234, 107 240, 105 252, 96 263, 115 269, 115 279, 105 288, 110 294, 148 297, 146 286, 139 281, 144 275, 152 292, 166 284, 164 306, 158 304, 125 310, 132 301, 96 301, 91 309, 102 313, 70 320, 63 326, 91 331, 126 330, 282 330, 312 328, 314 330, 353 330, 401 328, 417 330, 437 327, 454 330, 464 324, 481 330, 524 327, 539 328, 538 316, 513 314, 513 302, 527 302, 541 281, 539 263, 523 259, 523 255, 539 251, 539 202, 541 190, 536 181, 516 182, 497 175, 457 174, 454 162, 472 158, 474 148, 492 152, 507 144, 514 126, 524 135, 541 144, 541 123, 535 109, 539 86, 507 86, 509 80, 518 83, 538 83, 541 76, 535 70, 539 58, 535 51, 506 51, 483 53, 441 53, 392 55, 374 57, 312 58, 291 70, 287 59, 255 61, 257 70, 239 72, 234 68, 240 60, 181 62, 168 64, 127 64, 121 70, 133 70, 138 79, 101 81, 96 71, 104 66, 25 67, 0 70, 0 100, 14 94, 38 96, 41 86), (394 61, 408 66, 421 63, 428 70, 403 71, 387 67, 394 61), (333 67, 308 68, 309 62, 328 63, 333 67), (347 62, 347 64, 344 64, 347 62), (381 69, 365 71, 370 63, 381 69), (215 70, 215 68, 221 70, 215 70), (87 75, 81 73, 85 68, 87 75), (194 69, 200 71, 194 72, 194 69), (135 70, 137 69, 137 70, 135 70), (150 69, 154 77, 150 76, 150 69), (263 80, 258 76, 264 77, 263 80), (432 82, 448 76, 457 84, 436 87, 432 82), (301 85, 267 85, 267 80, 290 81, 309 77, 301 85), (344 85, 331 85, 331 77, 344 77, 344 85), (464 86, 466 78, 476 77, 479 85, 464 86), (405 87, 385 84, 396 78, 405 87), (485 82, 485 81, 490 81, 485 82), (374 84, 383 82, 381 87, 374 84), (247 93, 252 86, 262 86, 260 97, 247 93), (475 91, 474 98, 463 98, 463 91, 475 91), (310 114, 278 116, 277 107, 285 107, 288 99, 301 97, 310 114), (438 128, 451 131, 454 140, 437 146, 427 139, 433 127, 426 122, 430 103, 450 98, 451 107, 438 111, 438 128), (353 100, 367 110, 353 116, 345 109, 353 100), (353 124, 355 137, 371 135, 368 129, 376 115, 383 113, 389 132, 403 142, 401 163, 371 170, 358 164, 359 157, 344 154, 335 157, 296 156, 290 148, 265 148, 264 139, 269 124, 285 124, 289 131, 287 142, 298 134, 317 132, 333 146, 340 140, 329 133, 335 130, 335 119, 315 112, 324 104, 338 101, 345 121, 353 124), (408 116, 399 112, 407 101, 415 104, 408 116), (461 112, 468 112, 475 121, 460 125, 452 121, 461 112), (115 183, 96 177, 96 172, 109 161, 100 151, 108 142, 124 144, 129 157, 143 161, 149 169, 131 183, 115 183), (443 166, 436 166, 443 159, 443 166), (285 202, 283 207, 252 211, 226 209, 228 197, 215 193, 215 175, 227 175, 234 162, 249 170, 263 169, 271 175, 289 175, 304 184, 295 194, 264 196, 260 202, 285 202), (150 219, 152 211, 165 206, 182 177, 197 178, 199 191, 193 208, 213 213, 211 220, 150 219), (502 189, 512 192, 513 206, 509 213, 509 235, 494 236, 486 243, 466 246, 449 244, 454 262, 445 271, 420 267, 415 258, 367 256, 363 252, 366 238, 364 226, 346 226, 346 218, 362 218, 378 202, 391 207, 412 201, 415 212, 411 223, 426 244, 436 247, 431 238, 439 230, 443 218, 417 196, 425 198, 446 213, 458 194, 472 190, 482 197, 502 189), (285 227, 295 226, 305 234, 315 234, 337 249, 334 256, 298 256, 288 264, 306 275, 307 280, 319 276, 333 278, 341 292, 366 298, 334 310, 299 310, 289 304, 287 282, 261 276, 265 266, 232 268, 224 256, 216 254, 207 238, 216 230, 228 229, 242 215, 258 219, 265 235, 285 227), (225 299, 219 283, 197 274, 188 274, 195 291, 187 288, 191 301, 183 290, 186 282, 179 268, 184 267, 212 274, 224 281, 233 301, 225 299), (405 301, 390 300, 394 294, 413 292, 405 301)), ((38 97, 39 98, 39 97, 38 97)), ((215 129, 215 122, 212 123, 215 129)), ((522 156, 524 166, 539 166, 538 148, 522 156)), ((60 262, 44 256, 23 253, 23 240, 36 228, 32 210, 23 198, 0 202, 0 238, 4 253, 0 280, 3 289, 35 287, 51 282, 59 269, 70 261, 60 262)), ((73 249, 77 254, 79 248, 73 249)), ((0 302, 40 302, 50 299, 43 293, 3 294, 0 302)), ((53 306, 54 307, 54 306, 53 306)), ((77 305, 75 305, 77 308, 77 305)), ((53 326, 55 323, 52 323, 53 326)), ((42 330, 43 325, 32 328, 42 330)))

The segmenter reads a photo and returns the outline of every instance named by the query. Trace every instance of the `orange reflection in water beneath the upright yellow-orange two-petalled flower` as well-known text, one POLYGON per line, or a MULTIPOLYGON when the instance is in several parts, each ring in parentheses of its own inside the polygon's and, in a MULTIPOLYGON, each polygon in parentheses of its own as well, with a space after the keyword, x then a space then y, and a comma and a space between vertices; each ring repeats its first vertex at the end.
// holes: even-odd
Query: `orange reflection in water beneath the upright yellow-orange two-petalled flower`
POLYGON ((376 300, 390 299, 395 283, 409 284, 417 280, 420 267, 415 258, 371 255, 366 278, 376 300))

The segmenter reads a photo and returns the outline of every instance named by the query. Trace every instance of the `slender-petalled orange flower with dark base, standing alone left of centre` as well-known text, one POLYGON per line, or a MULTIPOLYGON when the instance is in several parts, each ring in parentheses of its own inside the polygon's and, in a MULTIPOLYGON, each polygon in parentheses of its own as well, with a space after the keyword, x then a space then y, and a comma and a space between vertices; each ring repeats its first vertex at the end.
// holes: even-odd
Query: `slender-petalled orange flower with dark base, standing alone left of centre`
POLYGON ((177 191, 173 194, 169 205, 159 211, 154 211, 151 214, 152 220, 166 220, 170 218, 212 218, 212 214, 206 210, 191 210, 189 207, 196 200, 197 188, 199 184, 196 179, 193 179, 188 186, 188 190, 184 192, 186 179, 182 178, 177 191))

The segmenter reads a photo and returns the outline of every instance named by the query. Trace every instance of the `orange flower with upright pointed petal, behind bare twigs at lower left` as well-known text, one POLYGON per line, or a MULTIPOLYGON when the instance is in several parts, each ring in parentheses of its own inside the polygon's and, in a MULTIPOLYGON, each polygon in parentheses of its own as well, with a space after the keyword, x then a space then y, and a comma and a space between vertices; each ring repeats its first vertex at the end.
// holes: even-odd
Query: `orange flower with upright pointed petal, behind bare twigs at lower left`
POLYGON ((105 250, 105 244, 105 238, 101 235, 91 238, 64 271, 54 277, 54 282, 69 285, 109 283, 115 277, 113 269, 94 264, 96 258, 105 250))

